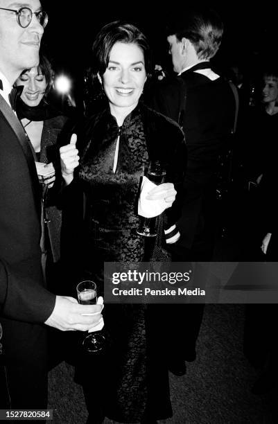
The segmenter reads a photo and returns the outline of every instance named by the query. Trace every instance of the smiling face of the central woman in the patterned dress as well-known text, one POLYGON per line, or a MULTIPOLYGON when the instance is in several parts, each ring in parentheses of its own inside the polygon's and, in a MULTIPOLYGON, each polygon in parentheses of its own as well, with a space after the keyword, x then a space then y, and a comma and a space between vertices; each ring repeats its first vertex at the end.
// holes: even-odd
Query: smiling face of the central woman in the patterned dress
POLYGON ((137 106, 145 82, 145 60, 141 48, 134 43, 116 42, 103 74, 103 89, 110 106, 128 108, 131 112, 137 106))

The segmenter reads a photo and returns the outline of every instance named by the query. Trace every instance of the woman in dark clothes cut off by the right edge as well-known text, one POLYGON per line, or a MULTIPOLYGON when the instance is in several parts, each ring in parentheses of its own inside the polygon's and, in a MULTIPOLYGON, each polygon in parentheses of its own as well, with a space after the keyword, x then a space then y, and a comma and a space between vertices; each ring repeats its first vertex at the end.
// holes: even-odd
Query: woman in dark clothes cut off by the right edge
MULTIPOLYGON (((257 175, 254 251, 260 262, 263 275, 259 283, 269 290, 276 285, 278 258, 277 238, 277 134, 278 134, 278 70, 263 73, 261 109, 257 115, 256 128, 258 144, 263 150, 259 176, 257 175), (261 250, 261 251, 260 251, 261 250), (272 265, 272 263, 274 263, 272 265), (273 266, 273 267, 272 267, 273 266)), ((256 258, 256 256, 255 256, 256 258)), ((262 367, 261 376, 255 382, 252 392, 264 394, 275 388, 278 378, 277 353, 277 304, 247 305, 245 322, 245 354, 252 364, 262 367)))

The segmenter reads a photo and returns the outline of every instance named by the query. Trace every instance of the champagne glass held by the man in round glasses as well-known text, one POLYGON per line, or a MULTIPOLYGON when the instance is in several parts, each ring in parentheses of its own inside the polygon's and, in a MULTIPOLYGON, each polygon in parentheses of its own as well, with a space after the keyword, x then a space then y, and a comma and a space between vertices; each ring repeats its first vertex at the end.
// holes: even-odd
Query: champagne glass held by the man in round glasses
MULTIPOLYGON (((94 281, 81 281, 77 286, 78 303, 81 305, 96 305, 97 292, 94 281)), ((82 341, 82 346, 87 352, 98 352, 103 349, 105 337, 100 331, 89 333, 82 341)))

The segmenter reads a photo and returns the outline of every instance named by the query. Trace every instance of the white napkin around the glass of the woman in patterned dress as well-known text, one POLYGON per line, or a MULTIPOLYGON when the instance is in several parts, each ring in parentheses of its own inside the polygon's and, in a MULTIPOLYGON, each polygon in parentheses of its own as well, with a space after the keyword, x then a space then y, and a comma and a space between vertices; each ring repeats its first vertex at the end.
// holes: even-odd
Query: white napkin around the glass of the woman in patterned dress
MULTIPOLYGON (((144 216, 144 218, 153 218, 154 216, 160 215, 167 208, 168 204, 164 199, 160 200, 148 200, 146 196, 148 193, 157 187, 156 184, 151 182, 147 177, 143 177, 141 184, 141 192, 138 201, 138 214, 144 216)), ((165 191, 166 193, 166 191, 165 191)))

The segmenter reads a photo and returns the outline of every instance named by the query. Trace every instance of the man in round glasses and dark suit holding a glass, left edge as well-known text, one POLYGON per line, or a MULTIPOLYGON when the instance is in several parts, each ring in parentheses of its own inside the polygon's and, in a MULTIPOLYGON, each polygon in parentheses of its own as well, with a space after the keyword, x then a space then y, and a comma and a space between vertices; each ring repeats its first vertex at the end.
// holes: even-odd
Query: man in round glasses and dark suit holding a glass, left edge
POLYGON ((88 330, 101 317, 82 315, 99 312, 101 306, 81 306, 44 287, 40 187, 30 142, 10 107, 12 84, 21 71, 39 63, 46 23, 39 0, 21 0, 20 5, 0 0, 0 316, 6 358, 0 375, 8 387, 0 408, 47 407, 44 323, 88 330))

